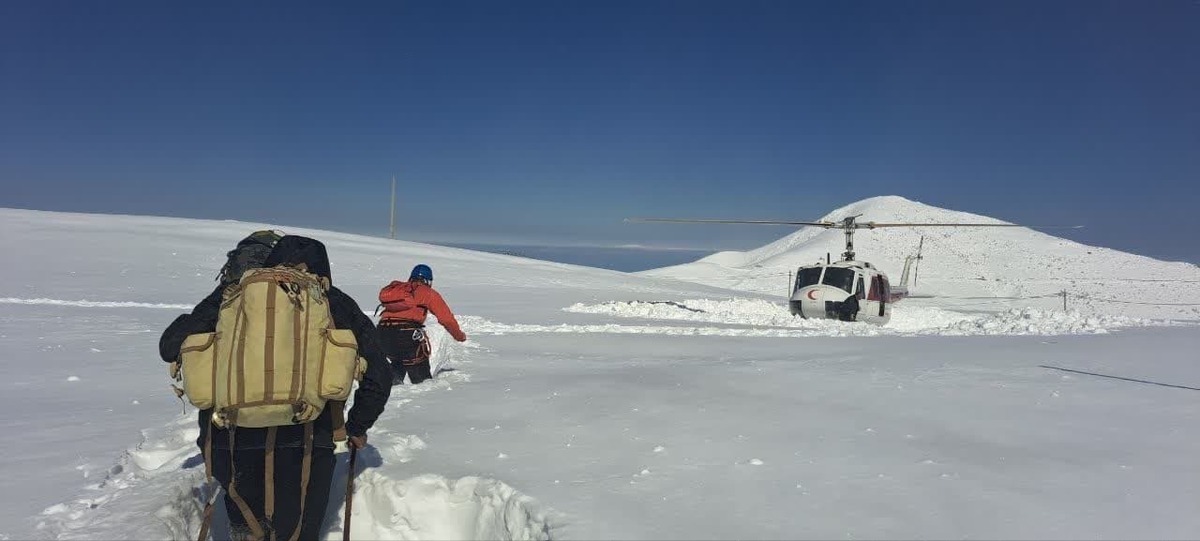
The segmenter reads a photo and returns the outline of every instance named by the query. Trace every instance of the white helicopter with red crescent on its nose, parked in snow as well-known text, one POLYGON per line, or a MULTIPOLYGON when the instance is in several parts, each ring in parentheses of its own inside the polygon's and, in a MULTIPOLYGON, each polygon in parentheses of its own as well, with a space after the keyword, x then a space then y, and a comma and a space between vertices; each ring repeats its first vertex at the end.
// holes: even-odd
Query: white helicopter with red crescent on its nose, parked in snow
MULTIPOLYGON (((626 218, 626 222, 658 223, 738 223, 760 226, 798 226, 841 229, 846 234, 846 251, 841 260, 800 265, 796 270, 796 282, 787 306, 792 315, 805 319, 839 319, 842 321, 865 321, 883 325, 892 318, 892 305, 908 296, 908 265, 922 259, 920 247, 917 256, 905 262, 905 279, 893 288, 883 271, 868 262, 858 260, 854 253, 854 232, 859 229, 880 229, 898 227, 1031 227, 1015 223, 880 223, 859 222, 863 215, 847 216, 839 221, 791 222, 775 220, 680 220, 680 218, 626 218)), ((1066 227, 1079 229, 1082 226, 1037 226, 1039 228, 1066 227)))

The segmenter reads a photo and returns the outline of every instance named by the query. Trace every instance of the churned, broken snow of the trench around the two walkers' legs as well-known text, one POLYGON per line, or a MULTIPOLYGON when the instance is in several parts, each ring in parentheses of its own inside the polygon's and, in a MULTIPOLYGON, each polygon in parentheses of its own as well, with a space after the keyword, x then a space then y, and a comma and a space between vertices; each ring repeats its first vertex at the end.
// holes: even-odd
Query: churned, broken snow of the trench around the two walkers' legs
MULTIPOLYGON (((462 360, 448 336, 431 335, 438 342, 432 359, 436 365, 462 360)), ((448 379, 469 380, 461 372, 448 379)), ((437 385, 422 387, 421 392, 428 392, 437 385)), ((408 402, 392 401, 385 416, 395 415, 408 402)), ((193 410, 164 427, 143 431, 143 441, 122 453, 103 480, 85 487, 84 497, 42 511, 37 530, 54 539, 196 539, 215 486, 204 479, 198 434, 193 410)), ((502 481, 434 474, 394 479, 379 468, 408 462, 406 457, 422 449, 420 438, 383 427, 372 431, 371 446, 359 451, 355 464, 352 539, 551 539, 551 522, 538 503, 502 481)), ((346 511, 349 455, 341 452, 336 461, 324 510, 323 537, 328 540, 342 539, 346 511)), ((229 539, 220 495, 214 510, 212 539, 229 539)))

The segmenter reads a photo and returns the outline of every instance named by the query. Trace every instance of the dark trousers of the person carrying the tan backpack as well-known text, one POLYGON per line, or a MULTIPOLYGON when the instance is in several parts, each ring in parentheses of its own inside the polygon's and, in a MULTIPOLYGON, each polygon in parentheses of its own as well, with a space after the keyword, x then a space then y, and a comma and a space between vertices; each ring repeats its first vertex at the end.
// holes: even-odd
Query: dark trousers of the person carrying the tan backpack
POLYGON ((259 525, 266 531, 266 539, 288 540, 299 523, 301 540, 320 539, 322 522, 325 519, 325 506, 329 504, 329 492, 334 481, 334 450, 313 447, 312 470, 308 474, 308 492, 304 504, 304 517, 300 516, 300 475, 304 464, 302 447, 280 447, 275 450, 275 515, 266 521, 266 451, 247 449, 233 452, 233 468, 228 450, 212 450, 212 476, 224 488, 226 512, 229 515, 229 529, 236 539, 238 533, 248 533, 246 517, 230 498, 230 471, 236 473, 234 488, 246 503, 259 525))

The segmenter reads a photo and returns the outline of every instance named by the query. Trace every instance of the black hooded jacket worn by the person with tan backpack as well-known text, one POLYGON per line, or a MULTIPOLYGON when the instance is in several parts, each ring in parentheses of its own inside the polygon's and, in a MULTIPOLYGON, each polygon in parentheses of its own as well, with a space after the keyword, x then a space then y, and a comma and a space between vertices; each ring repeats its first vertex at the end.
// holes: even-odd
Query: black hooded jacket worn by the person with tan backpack
MULTIPOLYGON (((325 253, 325 245, 306 236, 288 235, 275 245, 271 254, 263 266, 276 266, 281 264, 304 263, 308 272, 330 278, 329 256, 325 253)), ((330 281, 332 283, 332 281, 330 281)), ((221 311, 222 288, 215 289, 204 297, 192 313, 180 315, 167 327, 158 341, 158 354, 163 361, 172 362, 179 359, 179 349, 188 335, 199 332, 212 332, 217 327, 217 313, 221 311)), ((354 408, 346 421, 346 432, 350 435, 362 435, 374 425, 379 414, 383 413, 388 397, 391 395, 391 372, 388 368, 388 359, 379 349, 379 338, 371 321, 359 308, 359 305, 349 295, 335 287, 329 288, 329 309, 334 318, 334 326, 337 329, 349 329, 354 332, 354 338, 359 343, 359 356, 366 359, 367 372, 354 391, 354 408)), ((211 427, 212 410, 200 411, 200 438, 197 440, 202 446, 204 438, 211 427)), ((313 445, 322 447, 334 446, 334 421, 332 410, 326 405, 325 410, 314 421, 313 445)), ((238 449, 262 449, 266 445, 265 428, 238 428, 238 449)), ((304 427, 290 426, 280 427, 276 434, 276 445, 280 447, 292 447, 304 445, 304 427)), ((229 431, 216 429, 212 432, 212 446, 216 449, 229 449, 229 431)))

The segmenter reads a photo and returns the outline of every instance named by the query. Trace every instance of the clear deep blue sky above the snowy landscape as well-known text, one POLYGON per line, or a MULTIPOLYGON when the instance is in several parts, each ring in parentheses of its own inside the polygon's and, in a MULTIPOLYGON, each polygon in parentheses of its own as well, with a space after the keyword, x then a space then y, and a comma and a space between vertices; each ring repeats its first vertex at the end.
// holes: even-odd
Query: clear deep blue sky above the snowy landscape
POLYGON ((0 206, 749 248, 899 194, 1200 260, 1200 2, 0 2, 0 206))

